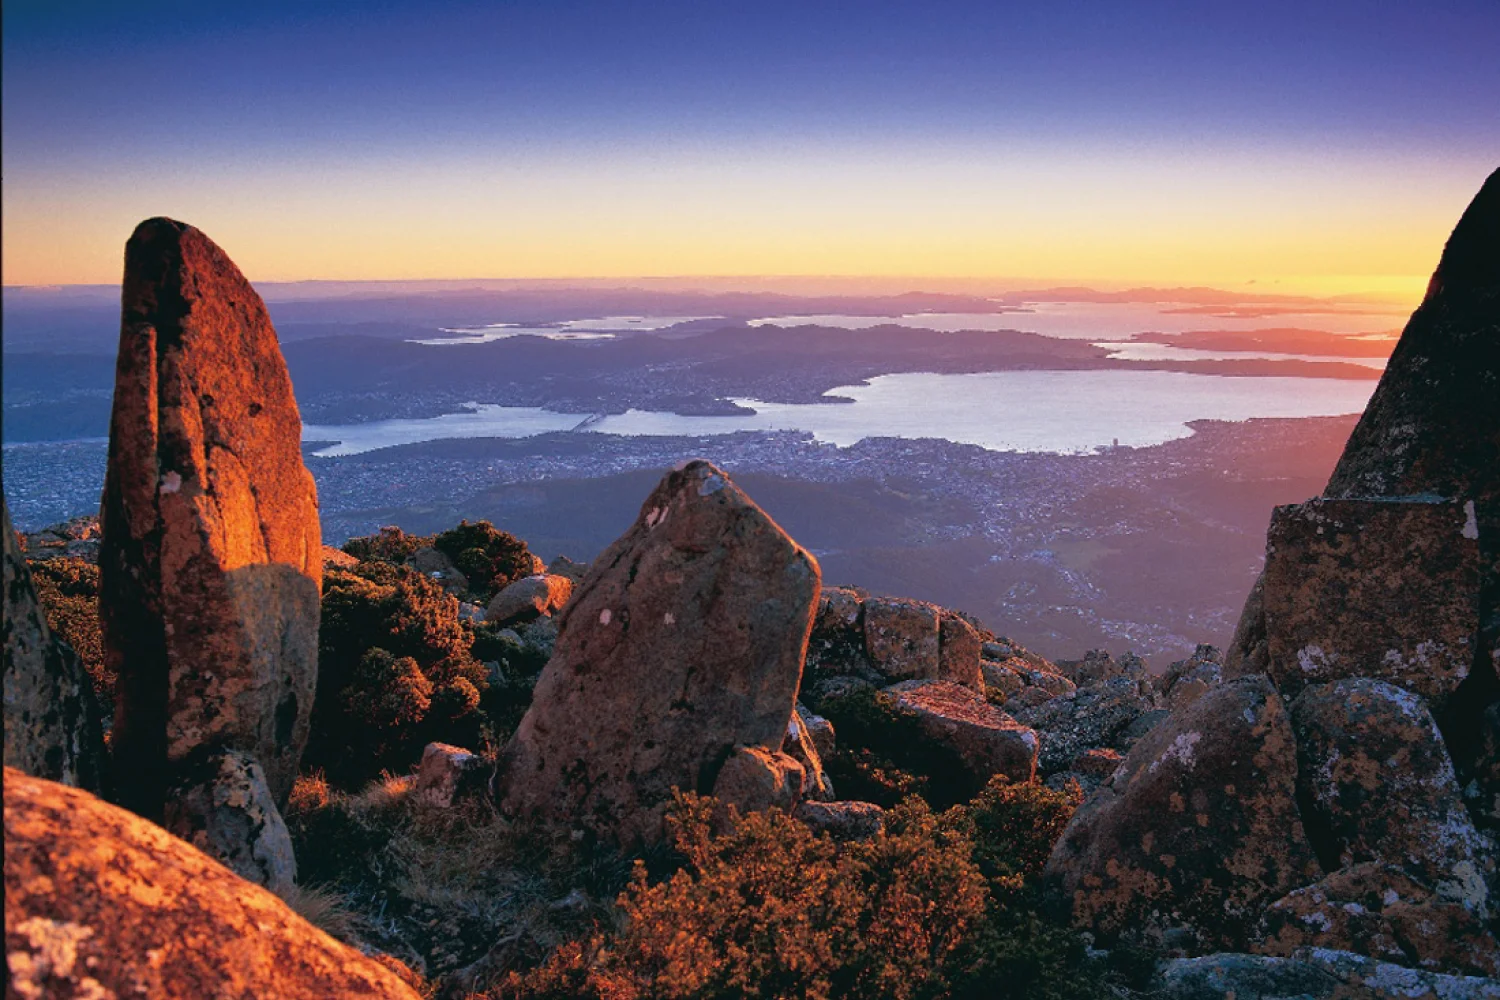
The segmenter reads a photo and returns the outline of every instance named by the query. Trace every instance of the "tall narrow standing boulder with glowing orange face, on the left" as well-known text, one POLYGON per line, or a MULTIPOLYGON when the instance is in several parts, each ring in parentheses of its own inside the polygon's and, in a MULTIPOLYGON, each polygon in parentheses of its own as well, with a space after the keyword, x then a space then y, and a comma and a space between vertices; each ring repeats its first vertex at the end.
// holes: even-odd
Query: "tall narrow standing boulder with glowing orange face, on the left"
POLYGON ((124 250, 100 516, 120 801, 159 817, 177 771, 220 750, 250 754, 284 801, 316 685, 316 490, 266 306, 171 219, 124 250))

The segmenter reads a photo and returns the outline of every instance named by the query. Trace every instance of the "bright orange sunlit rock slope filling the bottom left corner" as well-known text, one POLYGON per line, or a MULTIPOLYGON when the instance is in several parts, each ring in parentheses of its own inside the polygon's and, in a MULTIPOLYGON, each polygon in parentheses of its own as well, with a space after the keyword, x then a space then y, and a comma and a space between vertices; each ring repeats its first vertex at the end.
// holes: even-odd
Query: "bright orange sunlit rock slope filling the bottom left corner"
POLYGON ((159 826, 4 771, 8 997, 416 1000, 376 961, 159 826))

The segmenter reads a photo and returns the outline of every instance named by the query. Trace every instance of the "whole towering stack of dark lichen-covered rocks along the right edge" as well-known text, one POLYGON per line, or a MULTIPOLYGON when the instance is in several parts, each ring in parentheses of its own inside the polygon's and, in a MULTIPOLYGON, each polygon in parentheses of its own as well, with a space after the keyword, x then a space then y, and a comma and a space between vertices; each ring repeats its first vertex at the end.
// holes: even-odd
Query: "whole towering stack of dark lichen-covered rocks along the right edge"
MULTIPOLYGON (((1058 843, 1048 876, 1077 927, 1286 960, 1216 957, 1212 969, 1248 975, 1214 979, 1228 991, 1260 990, 1310 949, 1364 957, 1340 970, 1494 975, 1497 501, 1500 171, 1454 231, 1326 496, 1272 516, 1222 669, 1168 672, 1168 693, 1188 676, 1226 682, 1174 705, 1058 843)), ((1317 975, 1329 982, 1310 996, 1342 988, 1317 975)), ((1412 982, 1362 996, 1428 996, 1412 982)))

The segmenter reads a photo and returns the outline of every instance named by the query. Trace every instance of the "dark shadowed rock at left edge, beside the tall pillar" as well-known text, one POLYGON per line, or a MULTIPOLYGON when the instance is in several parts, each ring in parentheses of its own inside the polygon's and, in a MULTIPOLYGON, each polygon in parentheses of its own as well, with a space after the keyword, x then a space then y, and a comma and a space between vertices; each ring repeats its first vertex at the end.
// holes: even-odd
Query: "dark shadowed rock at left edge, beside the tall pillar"
POLYGON ((104 729, 93 679, 46 625, 9 505, 4 534, 4 763, 28 775, 99 792, 104 729))

